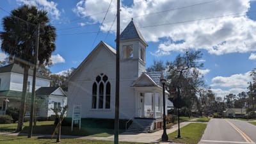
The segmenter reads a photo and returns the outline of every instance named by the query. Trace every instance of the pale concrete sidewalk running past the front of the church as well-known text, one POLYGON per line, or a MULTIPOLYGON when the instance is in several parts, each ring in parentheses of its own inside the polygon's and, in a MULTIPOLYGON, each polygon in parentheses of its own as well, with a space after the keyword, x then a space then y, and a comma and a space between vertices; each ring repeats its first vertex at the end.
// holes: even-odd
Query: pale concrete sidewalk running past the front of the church
MULTIPOLYGON (((182 122, 180 123, 180 127, 184 127, 185 125, 190 124, 191 122, 182 122)), ((172 129, 167 129, 167 133, 170 134, 174 131, 177 131, 178 125, 173 125, 172 129)), ((19 133, 8 133, 8 132, 0 132, 0 134, 10 135, 10 136, 22 136, 27 134, 19 134, 19 133)), ((163 134, 163 130, 152 132, 152 133, 140 133, 134 134, 130 132, 124 132, 119 134, 119 141, 129 141, 129 142, 139 142, 139 143, 159 143, 159 139, 163 134)), ((34 134, 34 136, 38 137, 47 137, 51 138, 50 134, 34 134)), ((114 136, 109 137, 95 137, 95 136, 68 136, 68 135, 61 135, 61 138, 77 138, 77 139, 84 139, 84 140, 106 140, 106 141, 114 141, 114 136)), ((172 143, 175 144, 175 143, 172 143)))

